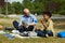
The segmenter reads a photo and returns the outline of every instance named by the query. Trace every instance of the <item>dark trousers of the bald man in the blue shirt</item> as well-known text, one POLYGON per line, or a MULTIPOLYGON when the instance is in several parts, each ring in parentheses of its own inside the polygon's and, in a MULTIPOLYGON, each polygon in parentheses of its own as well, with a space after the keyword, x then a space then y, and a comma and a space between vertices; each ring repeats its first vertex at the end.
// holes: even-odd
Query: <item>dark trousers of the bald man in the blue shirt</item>
POLYGON ((16 20, 13 22, 13 26, 16 28, 16 30, 18 30, 20 32, 24 32, 24 31, 32 31, 34 30, 34 26, 29 26, 28 29, 26 27, 23 28, 18 28, 18 23, 16 20))

